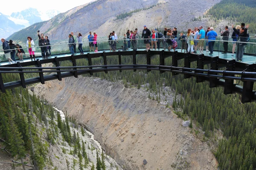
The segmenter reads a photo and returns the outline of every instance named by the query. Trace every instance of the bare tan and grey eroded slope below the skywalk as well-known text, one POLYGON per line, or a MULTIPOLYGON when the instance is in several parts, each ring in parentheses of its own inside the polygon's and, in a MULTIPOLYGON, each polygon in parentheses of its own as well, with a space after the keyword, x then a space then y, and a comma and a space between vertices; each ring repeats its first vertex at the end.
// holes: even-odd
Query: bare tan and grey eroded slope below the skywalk
POLYGON ((49 81, 34 91, 78 118, 125 170, 217 168, 207 143, 148 92, 89 77, 49 81))

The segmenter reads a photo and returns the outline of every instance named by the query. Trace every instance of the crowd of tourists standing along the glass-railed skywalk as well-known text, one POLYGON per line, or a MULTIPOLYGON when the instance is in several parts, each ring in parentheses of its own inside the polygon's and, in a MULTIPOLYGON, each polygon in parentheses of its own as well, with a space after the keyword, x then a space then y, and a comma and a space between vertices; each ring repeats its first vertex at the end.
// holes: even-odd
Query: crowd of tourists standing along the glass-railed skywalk
MULTIPOLYGON (((241 23, 241 26, 237 25, 236 27, 232 25, 232 56, 234 55, 236 49, 236 61, 239 62, 242 61, 244 46, 247 44, 244 42, 248 42, 250 39, 247 31, 248 27, 249 25, 245 26, 244 23, 241 23), (237 41, 241 43, 236 43, 237 41)), ((44 36, 44 34, 40 34, 39 32, 40 31, 38 30, 38 46, 41 49, 41 56, 43 58, 47 58, 51 56, 51 44, 48 36, 44 36)), ((229 35, 229 27, 225 26, 224 31, 221 31, 221 36, 223 37, 222 40, 224 41, 224 51, 222 54, 227 54, 229 35)), ((192 54, 203 54, 205 45, 206 51, 209 51, 209 55, 212 55, 217 36, 218 34, 216 31, 214 31, 213 27, 208 27, 206 31, 204 30, 203 26, 199 26, 199 28, 195 27, 194 29, 189 28, 187 32, 181 32, 179 38, 177 38, 176 27, 164 28, 162 33, 157 31, 157 29, 149 30, 147 26, 144 26, 141 36, 137 28, 134 29, 134 31, 128 29, 126 34, 123 34, 121 40, 123 51, 131 50, 131 45, 133 50, 137 51, 138 39, 141 37, 144 40, 145 50, 160 50, 160 45, 162 44, 164 50, 167 49, 168 51, 175 51, 177 50, 177 41, 180 41, 181 52, 184 51, 184 53, 191 52, 192 54)), ((76 53, 76 44, 78 44, 80 54, 84 54, 82 48, 82 34, 79 33, 77 36, 75 36, 74 33, 71 32, 68 37, 68 47, 71 56, 76 53)), ((89 42, 90 52, 98 52, 96 32, 89 32, 87 39, 89 42)), ((19 60, 23 60, 23 57, 26 54, 21 45, 14 44, 12 40, 6 41, 4 38, 2 38, 1 41, 3 42, 5 57, 8 59, 9 63, 16 62, 15 56, 18 57, 19 60)), ((108 35, 108 43, 110 51, 116 51, 116 43, 121 42, 118 41, 115 31, 112 31, 108 35)), ((30 59, 35 60, 35 43, 32 40, 32 37, 27 37, 26 47, 27 51, 29 52, 30 59)))

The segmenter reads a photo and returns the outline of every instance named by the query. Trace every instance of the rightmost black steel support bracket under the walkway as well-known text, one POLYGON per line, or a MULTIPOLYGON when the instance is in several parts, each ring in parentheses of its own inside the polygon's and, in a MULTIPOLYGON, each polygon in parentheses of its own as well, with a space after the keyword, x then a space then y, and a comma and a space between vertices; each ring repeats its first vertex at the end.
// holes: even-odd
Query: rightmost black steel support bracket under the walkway
MULTIPOLYGON (((256 64, 251 64, 246 66, 247 71, 249 72, 255 72, 256 71, 256 64)), ((244 75, 241 75, 241 79, 243 81, 244 75)), ((248 77, 246 77, 248 78, 248 77)), ((242 91, 242 103, 251 102, 253 97, 253 83, 252 81, 243 81, 243 91, 242 91)))

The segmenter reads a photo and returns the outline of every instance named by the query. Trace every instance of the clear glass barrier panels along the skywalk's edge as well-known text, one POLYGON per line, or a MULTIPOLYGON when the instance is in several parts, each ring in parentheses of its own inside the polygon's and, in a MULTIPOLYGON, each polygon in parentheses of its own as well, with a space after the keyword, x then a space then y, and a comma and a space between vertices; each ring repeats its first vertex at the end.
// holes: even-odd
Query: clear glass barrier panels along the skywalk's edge
MULTIPOLYGON (((185 33, 185 35, 187 35, 185 33)), ((113 42, 113 44, 115 44, 116 50, 125 50, 125 44, 124 44, 124 36, 118 36, 119 39, 116 41, 110 41, 108 40, 108 37, 98 37, 97 38, 97 47, 99 52, 102 51, 113 51, 113 49, 111 48, 111 43, 113 42)), ((41 47, 38 46, 38 42, 36 42, 38 40, 35 40, 35 59, 43 59, 42 57, 42 51, 41 51, 41 47)), ((137 48, 137 50, 146 50, 146 49, 150 49, 153 51, 174 51, 174 42, 177 42, 177 47, 175 47, 175 50, 178 52, 191 52, 191 53, 195 53, 195 54, 204 54, 205 56, 211 56, 211 57, 215 57, 215 56, 219 56, 220 58, 223 59, 236 59, 237 58, 237 48, 238 45, 240 47, 240 42, 236 42, 235 40, 233 40, 233 38, 230 37, 221 37, 218 36, 216 37, 215 40, 209 40, 209 39, 202 39, 202 40, 196 40, 195 37, 191 39, 191 37, 188 37, 185 41, 180 37, 180 34, 177 37, 168 37, 168 39, 166 37, 159 37, 158 39, 152 39, 152 38, 148 38, 148 39, 142 39, 141 37, 139 37, 138 40, 127 40, 126 39, 126 50, 134 50, 134 48, 137 48), (227 40, 224 40, 224 38, 228 38, 227 40), (214 43, 212 43, 214 41, 214 43), (137 43, 135 43, 137 42, 137 43), (199 48, 198 43, 200 42, 201 48, 199 48), (209 43, 211 42, 211 43, 209 43), (130 46, 128 45, 130 43, 130 46), (193 44, 191 44, 193 43, 193 44), (210 45, 213 44, 212 46, 212 54, 210 50, 210 45), (225 46, 226 45, 226 46, 225 46), (128 48, 129 47, 129 48, 128 48), (225 52, 224 49, 227 48, 227 53, 223 53, 225 52)), ((68 39, 66 40, 54 40, 50 42, 51 45, 47 46, 47 52, 48 52, 48 58, 49 57, 55 57, 57 54, 58 56, 64 57, 64 56, 70 56, 70 49, 68 46, 68 39), (61 54, 61 55, 59 55, 61 54)), ((22 59, 25 60, 31 60, 30 59, 30 55, 28 52, 28 48, 26 47, 26 42, 22 42, 19 43, 19 48, 15 48, 15 60, 19 61, 19 62, 23 62, 22 59), (17 54, 17 50, 18 49, 23 49, 25 54, 17 54)), ((254 59, 253 56, 256 55, 256 39, 255 37, 250 37, 250 40, 248 42, 247 45, 244 45, 244 54, 246 54, 247 56, 243 57, 243 62, 248 62, 248 63, 255 63, 255 61, 253 62, 253 60, 247 60, 247 58, 249 59, 254 59), (246 60, 244 60, 246 59, 246 60)), ((93 44, 93 47, 90 47, 90 43, 87 39, 87 35, 85 37, 82 38, 82 42, 81 43, 76 43, 76 54, 75 55, 79 55, 82 52, 84 52, 84 54, 87 53, 96 53, 96 45, 93 44), (81 44, 81 48, 83 51, 79 50, 79 44, 81 44)), ((46 53, 45 53, 46 55, 46 53)), ((2 46, 0 46, 0 59, 2 62, 8 62, 8 59, 6 59, 2 46)), ((34 57, 32 56, 32 60, 34 60, 34 57)), ((239 59, 237 59, 239 60, 239 59)))

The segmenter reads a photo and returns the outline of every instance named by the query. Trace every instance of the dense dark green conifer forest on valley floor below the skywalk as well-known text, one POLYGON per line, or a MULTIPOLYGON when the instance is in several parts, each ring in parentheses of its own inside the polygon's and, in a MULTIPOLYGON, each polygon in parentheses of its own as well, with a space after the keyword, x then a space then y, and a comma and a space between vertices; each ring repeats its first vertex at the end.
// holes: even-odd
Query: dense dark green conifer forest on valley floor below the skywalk
MULTIPOLYGON (((108 57, 108 63, 118 63, 118 58, 108 57)), ((131 57, 124 58, 132 64, 131 57)), ((94 65, 100 65, 103 59, 95 59, 94 65)), ((166 65, 171 65, 172 59, 166 58, 166 65)), ((138 55, 137 63, 145 63, 145 57, 138 55)), ((151 64, 157 65, 158 58, 151 58, 151 64)), ((71 66, 66 62, 63 65, 71 66)), ((77 62, 77 65, 87 65, 86 61, 77 62)), ((182 67, 184 64, 180 62, 182 67)), ((195 65, 192 66, 195 68, 195 65)), ((207 68, 205 68, 207 69, 207 68)), ((180 100, 174 99, 172 107, 182 108, 177 115, 183 119, 192 119, 194 126, 201 127, 204 140, 214 141, 218 147, 213 150, 221 170, 253 170, 256 168, 256 103, 242 104, 238 94, 224 95, 223 88, 209 88, 209 82, 196 83, 195 78, 183 79, 183 75, 172 76, 171 73, 160 74, 159 71, 119 71, 96 73, 94 76, 108 79, 113 82, 122 80, 125 87, 141 88, 156 94, 158 102, 165 100, 164 87, 175 89, 182 94, 180 100), (162 87, 161 85, 164 86, 162 87), (163 96, 162 98, 160 96, 163 96), (218 132, 223 134, 218 139, 218 132)), ((242 85, 242 82, 237 82, 242 85)), ((256 86, 254 85, 254 90, 256 86)), ((148 96, 151 98, 151 96, 148 96)), ((193 130, 192 130, 193 131, 193 130)), ((198 131, 194 130, 195 135, 198 131)))

